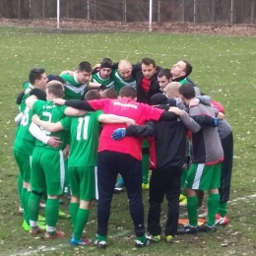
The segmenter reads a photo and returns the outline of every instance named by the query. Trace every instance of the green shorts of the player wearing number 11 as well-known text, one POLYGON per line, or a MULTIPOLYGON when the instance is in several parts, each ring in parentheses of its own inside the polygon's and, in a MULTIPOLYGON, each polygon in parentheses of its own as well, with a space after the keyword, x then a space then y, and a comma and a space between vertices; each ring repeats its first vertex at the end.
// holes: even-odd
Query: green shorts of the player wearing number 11
POLYGON ((72 196, 80 200, 96 199, 96 167, 69 167, 69 181, 72 196))

